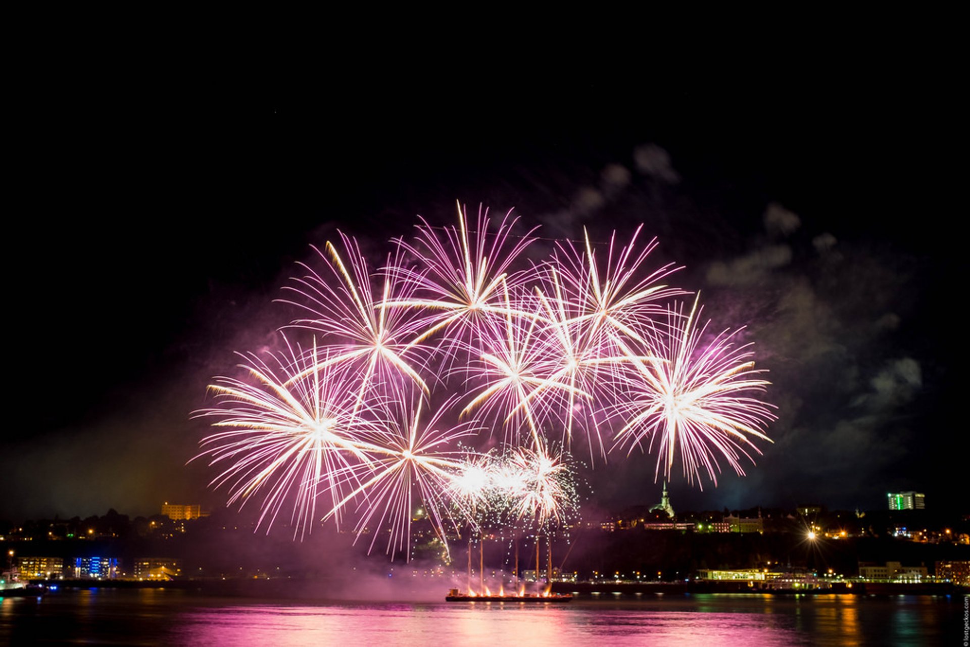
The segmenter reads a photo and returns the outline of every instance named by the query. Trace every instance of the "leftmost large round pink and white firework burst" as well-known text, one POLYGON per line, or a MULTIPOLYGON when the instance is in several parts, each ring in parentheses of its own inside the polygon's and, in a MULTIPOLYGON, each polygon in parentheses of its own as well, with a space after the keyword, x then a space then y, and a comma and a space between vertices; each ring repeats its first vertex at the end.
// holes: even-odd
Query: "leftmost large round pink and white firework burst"
POLYGON ((382 425, 380 408, 362 411, 356 385, 315 343, 305 352, 283 340, 286 352, 269 353, 269 361, 241 355, 249 380, 217 377, 210 385, 218 406, 195 415, 217 418, 212 426, 226 431, 205 437, 196 458, 222 467, 210 485, 227 486, 230 504, 262 494, 259 525, 268 530, 292 501, 296 536, 313 523, 319 493, 337 503, 353 486, 351 468, 370 463, 382 425))

